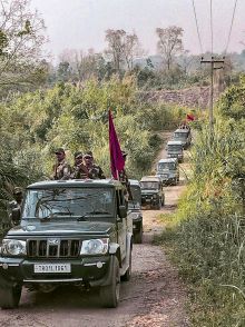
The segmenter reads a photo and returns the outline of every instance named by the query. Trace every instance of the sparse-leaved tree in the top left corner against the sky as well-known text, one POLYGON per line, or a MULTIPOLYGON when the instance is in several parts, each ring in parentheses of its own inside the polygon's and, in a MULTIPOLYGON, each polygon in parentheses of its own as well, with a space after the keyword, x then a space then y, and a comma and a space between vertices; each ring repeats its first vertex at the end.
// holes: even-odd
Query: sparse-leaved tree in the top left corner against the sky
POLYGON ((30 0, 0 0, 0 85, 31 83, 40 67, 45 23, 30 0))

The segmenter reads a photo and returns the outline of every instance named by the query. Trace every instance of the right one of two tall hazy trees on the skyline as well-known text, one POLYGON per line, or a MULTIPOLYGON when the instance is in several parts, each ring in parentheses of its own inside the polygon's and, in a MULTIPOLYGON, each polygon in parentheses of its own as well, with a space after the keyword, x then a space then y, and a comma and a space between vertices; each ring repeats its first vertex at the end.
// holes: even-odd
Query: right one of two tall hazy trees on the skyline
POLYGON ((183 29, 176 26, 163 29, 157 28, 157 49, 163 56, 167 70, 170 70, 174 58, 183 51, 183 29))

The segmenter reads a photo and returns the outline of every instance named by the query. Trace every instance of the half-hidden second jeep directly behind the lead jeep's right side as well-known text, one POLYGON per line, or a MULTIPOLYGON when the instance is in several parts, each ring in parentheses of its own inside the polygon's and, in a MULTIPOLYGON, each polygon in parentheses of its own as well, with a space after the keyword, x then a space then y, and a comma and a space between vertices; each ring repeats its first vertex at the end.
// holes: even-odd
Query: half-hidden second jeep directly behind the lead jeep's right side
POLYGON ((137 179, 129 179, 133 199, 128 201, 129 215, 133 218, 134 242, 143 242, 141 189, 137 179))

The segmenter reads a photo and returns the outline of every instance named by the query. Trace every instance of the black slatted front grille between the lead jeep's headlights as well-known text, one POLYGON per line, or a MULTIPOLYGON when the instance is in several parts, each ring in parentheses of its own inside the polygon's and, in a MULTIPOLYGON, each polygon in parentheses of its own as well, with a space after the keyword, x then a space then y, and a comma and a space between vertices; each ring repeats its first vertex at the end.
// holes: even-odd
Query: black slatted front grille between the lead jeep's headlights
POLYGON ((79 239, 29 239, 27 256, 30 258, 76 258, 80 252, 79 239))

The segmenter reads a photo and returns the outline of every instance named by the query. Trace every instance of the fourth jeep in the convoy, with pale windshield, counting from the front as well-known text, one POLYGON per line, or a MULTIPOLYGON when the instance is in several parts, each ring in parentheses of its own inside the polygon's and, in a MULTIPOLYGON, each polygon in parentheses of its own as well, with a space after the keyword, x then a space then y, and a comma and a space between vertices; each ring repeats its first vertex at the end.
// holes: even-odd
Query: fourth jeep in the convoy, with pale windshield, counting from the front
POLYGON ((164 185, 177 185, 179 181, 178 159, 160 159, 157 164, 156 175, 161 178, 164 185))

